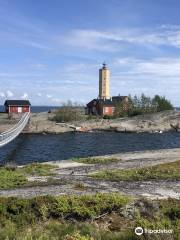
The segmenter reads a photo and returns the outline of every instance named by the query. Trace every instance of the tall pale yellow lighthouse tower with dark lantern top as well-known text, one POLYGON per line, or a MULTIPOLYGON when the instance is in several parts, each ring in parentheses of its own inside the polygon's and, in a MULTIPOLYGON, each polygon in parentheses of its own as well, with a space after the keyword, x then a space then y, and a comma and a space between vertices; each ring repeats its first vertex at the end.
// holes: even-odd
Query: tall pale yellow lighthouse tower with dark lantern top
POLYGON ((109 80, 110 71, 106 63, 103 63, 103 67, 99 69, 99 99, 110 99, 109 80))

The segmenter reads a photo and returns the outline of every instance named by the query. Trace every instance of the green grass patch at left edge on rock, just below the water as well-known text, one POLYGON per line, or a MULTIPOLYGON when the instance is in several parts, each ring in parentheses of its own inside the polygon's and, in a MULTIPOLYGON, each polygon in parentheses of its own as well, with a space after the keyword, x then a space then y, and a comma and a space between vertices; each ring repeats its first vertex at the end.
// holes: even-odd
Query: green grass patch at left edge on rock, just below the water
POLYGON ((4 166, 0 168, 0 189, 17 188, 28 185, 27 176, 51 176, 56 166, 50 164, 33 163, 22 168, 4 166))

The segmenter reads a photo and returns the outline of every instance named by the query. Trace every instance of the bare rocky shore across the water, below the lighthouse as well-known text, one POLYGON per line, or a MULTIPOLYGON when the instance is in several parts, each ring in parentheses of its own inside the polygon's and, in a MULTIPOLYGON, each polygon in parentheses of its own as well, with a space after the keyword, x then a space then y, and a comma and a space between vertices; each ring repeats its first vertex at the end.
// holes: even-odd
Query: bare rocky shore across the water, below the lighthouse
MULTIPOLYGON (((180 123, 179 111, 164 111, 154 114, 140 115, 131 118, 91 119, 69 123, 52 121, 54 112, 32 113, 25 133, 59 134, 73 131, 117 131, 117 132, 165 132, 178 131, 180 123)), ((11 128, 18 119, 9 120, 6 114, 0 114, 0 132, 11 128)))

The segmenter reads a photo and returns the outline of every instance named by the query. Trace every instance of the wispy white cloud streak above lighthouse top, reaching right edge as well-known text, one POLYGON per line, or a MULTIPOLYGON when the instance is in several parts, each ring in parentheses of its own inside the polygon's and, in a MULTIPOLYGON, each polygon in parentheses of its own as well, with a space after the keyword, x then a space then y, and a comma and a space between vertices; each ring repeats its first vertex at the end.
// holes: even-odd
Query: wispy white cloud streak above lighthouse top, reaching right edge
POLYGON ((105 52, 117 51, 124 43, 180 48, 180 26, 162 25, 154 29, 128 28, 107 31, 75 29, 59 38, 59 41, 72 47, 105 52))

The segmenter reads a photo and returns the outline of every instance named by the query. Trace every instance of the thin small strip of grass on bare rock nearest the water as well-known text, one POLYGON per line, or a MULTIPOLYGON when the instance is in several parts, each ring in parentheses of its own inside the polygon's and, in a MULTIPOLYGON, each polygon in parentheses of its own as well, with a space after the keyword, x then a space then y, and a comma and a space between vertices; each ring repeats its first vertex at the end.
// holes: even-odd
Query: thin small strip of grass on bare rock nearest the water
POLYGON ((119 162, 117 158, 73 158, 73 161, 85 164, 108 164, 119 162))

